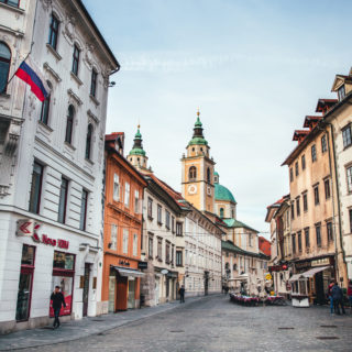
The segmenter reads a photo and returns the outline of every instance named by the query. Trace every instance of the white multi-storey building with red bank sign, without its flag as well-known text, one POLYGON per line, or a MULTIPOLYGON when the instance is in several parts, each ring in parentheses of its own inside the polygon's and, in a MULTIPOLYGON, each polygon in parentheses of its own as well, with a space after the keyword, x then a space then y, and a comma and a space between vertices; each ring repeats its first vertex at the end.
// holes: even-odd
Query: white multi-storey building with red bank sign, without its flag
POLYGON ((68 318, 100 312, 103 136, 119 64, 80 0, 0 2, 0 23, 2 88, 31 51, 51 89, 42 103, 14 77, 0 95, 6 333, 48 323, 55 285, 68 318))

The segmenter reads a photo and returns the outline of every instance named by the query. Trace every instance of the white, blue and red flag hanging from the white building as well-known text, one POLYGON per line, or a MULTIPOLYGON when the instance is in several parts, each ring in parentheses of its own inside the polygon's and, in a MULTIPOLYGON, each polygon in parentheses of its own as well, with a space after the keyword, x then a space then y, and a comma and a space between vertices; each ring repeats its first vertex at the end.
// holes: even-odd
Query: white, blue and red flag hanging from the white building
POLYGON ((15 75, 31 86, 31 90, 37 99, 44 101, 47 98, 48 87, 32 61, 29 59, 29 63, 22 62, 15 75))

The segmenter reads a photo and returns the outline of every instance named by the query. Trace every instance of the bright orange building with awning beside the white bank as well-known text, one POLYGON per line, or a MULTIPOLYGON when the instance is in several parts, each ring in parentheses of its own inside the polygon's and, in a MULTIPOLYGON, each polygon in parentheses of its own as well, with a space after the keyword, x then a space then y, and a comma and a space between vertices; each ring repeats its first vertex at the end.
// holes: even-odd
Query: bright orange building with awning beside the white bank
POLYGON ((105 312, 140 306, 142 201, 146 182, 123 157, 123 133, 106 135, 101 300, 105 312))

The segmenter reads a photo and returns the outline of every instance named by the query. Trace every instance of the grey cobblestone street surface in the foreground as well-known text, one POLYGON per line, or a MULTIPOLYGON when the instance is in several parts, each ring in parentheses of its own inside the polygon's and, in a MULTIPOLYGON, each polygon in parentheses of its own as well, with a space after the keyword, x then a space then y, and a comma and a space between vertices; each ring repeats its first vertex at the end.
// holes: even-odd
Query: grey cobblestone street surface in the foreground
POLYGON ((210 296, 88 338, 26 351, 297 352, 351 351, 351 344, 352 315, 330 316, 328 307, 242 307, 210 296))

